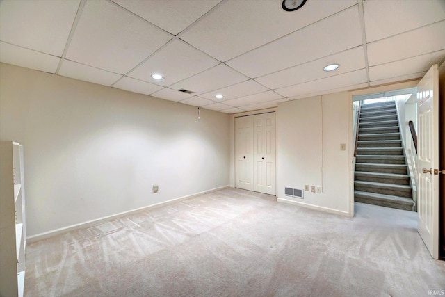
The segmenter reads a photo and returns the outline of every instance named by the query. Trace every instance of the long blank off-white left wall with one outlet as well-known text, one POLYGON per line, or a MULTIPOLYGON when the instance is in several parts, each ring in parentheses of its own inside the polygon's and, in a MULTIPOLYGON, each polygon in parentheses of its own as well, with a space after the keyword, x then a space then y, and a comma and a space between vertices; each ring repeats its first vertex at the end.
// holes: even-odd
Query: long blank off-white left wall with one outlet
POLYGON ((29 236, 229 185, 230 115, 7 64, 0 86, 29 236))

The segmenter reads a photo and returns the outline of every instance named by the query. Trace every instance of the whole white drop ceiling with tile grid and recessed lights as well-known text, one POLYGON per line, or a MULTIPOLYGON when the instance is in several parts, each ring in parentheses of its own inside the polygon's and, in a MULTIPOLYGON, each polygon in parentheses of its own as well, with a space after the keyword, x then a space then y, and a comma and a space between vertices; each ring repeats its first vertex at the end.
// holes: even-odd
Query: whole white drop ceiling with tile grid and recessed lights
POLYGON ((444 60, 444 0, 281 2, 0 0, 0 61, 240 113, 416 79, 444 60))

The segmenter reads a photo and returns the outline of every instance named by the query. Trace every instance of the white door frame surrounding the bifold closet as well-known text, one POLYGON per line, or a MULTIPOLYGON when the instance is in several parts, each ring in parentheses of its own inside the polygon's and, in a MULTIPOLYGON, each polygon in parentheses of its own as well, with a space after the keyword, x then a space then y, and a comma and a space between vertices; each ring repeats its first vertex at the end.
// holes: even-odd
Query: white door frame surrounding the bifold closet
MULTIPOLYGON (((249 115, 260 115, 262 113, 275 113, 275 131, 277 131, 277 116, 278 116, 278 109, 277 107, 272 107, 270 109, 259 109, 256 111, 245 111, 243 113, 234 113, 232 114, 232 119, 230 121, 230 124, 232 125, 230 129, 230 176, 229 176, 229 184, 231 188, 236 188, 236 129, 235 129, 235 118, 241 118, 249 115)), ((278 143, 277 136, 275 134, 275 144, 278 143)), ((278 167, 277 164, 277 154, 278 154, 278 147, 275 145, 275 169, 278 167)), ((277 175, 275 172, 275 197, 277 197, 277 175)))

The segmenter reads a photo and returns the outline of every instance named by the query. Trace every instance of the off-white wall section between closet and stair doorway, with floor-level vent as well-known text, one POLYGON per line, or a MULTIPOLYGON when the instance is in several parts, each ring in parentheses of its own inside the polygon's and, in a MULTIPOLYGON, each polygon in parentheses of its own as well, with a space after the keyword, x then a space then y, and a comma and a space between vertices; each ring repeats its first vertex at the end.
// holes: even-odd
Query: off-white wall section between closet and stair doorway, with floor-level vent
POLYGON ((278 104, 277 196, 298 204, 351 216, 353 103, 334 93, 278 104), (346 150, 340 150, 340 144, 346 150), (284 187, 322 186, 303 200, 284 196, 284 187))

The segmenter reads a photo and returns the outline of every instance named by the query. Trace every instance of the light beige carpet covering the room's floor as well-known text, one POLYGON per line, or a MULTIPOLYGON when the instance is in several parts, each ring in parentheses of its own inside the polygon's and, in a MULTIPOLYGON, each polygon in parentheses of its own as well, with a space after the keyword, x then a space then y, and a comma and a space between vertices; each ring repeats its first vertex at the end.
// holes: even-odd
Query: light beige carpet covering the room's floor
POLYGON ((416 213, 345 218, 227 188, 31 243, 25 296, 428 296, 416 213))

